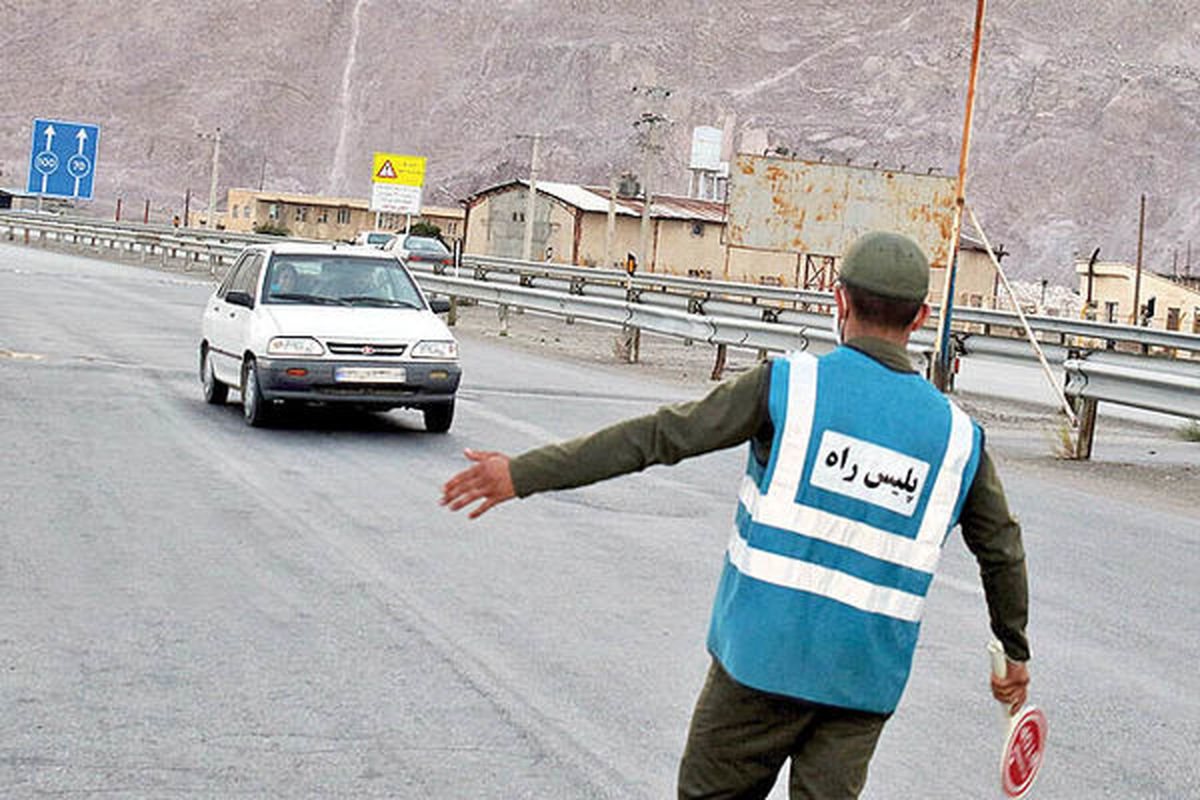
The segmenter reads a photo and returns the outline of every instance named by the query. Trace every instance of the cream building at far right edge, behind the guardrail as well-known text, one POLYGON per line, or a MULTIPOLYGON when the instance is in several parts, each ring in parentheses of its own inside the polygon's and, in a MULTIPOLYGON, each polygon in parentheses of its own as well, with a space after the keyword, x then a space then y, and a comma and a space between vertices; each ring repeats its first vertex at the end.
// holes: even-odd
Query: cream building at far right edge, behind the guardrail
MULTIPOLYGON (((1086 300, 1091 284, 1096 318, 1105 323, 1134 323, 1134 284, 1138 267, 1124 261, 1097 261, 1088 275, 1087 259, 1075 261, 1079 293, 1086 300)), ((1151 327, 1200 333, 1200 277, 1172 276, 1144 269, 1138 305, 1153 300, 1151 327)), ((1139 314, 1142 317, 1142 314, 1139 314)))

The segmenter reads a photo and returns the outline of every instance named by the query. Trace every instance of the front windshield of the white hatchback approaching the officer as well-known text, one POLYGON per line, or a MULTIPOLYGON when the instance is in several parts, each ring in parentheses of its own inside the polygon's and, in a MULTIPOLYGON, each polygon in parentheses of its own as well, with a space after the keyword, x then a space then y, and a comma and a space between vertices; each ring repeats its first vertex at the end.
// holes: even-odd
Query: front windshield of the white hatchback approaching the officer
POLYGON ((334 254, 276 254, 263 302, 424 308, 408 272, 392 259, 334 254))

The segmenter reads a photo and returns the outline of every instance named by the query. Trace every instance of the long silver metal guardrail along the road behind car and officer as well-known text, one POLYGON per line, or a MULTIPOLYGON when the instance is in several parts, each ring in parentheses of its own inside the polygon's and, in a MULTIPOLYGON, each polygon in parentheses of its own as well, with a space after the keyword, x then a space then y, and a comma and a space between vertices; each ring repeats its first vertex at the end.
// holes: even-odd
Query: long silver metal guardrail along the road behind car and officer
MULTIPOLYGON (((0 236, 5 231, 8 239, 22 231, 26 241, 36 234, 42 242, 127 249, 140 253, 143 260, 184 258, 203 264, 214 276, 246 245, 278 241, 274 236, 0 212, 0 236)), ((714 375, 724 363, 725 347, 782 351, 834 341, 828 314, 814 308, 830 306, 829 293, 671 275, 630 276, 619 270, 478 255, 463 257, 457 267, 410 266, 422 287, 433 293, 715 344, 714 375)), ((1027 343, 990 332, 1019 327, 1016 314, 982 308, 955 313, 961 323, 982 325, 985 331, 955 332, 960 355, 1032 361, 1027 343)), ((1063 363, 1067 395, 1081 410, 1076 457, 1091 455, 1100 401, 1200 419, 1200 362, 1110 349, 1120 342, 1200 354, 1200 336, 1057 317, 1031 317, 1030 323, 1036 331, 1061 337, 1060 343, 1048 343, 1044 349, 1063 363)), ((917 331, 910 349, 926 354, 932 339, 932 330, 917 331)))

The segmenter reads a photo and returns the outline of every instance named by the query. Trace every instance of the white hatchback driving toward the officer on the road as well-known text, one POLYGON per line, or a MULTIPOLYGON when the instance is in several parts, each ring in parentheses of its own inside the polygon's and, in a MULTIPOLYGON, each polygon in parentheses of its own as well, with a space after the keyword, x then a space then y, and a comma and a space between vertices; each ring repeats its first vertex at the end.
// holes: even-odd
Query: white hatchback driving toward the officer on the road
POLYGON ((450 429, 462 371, 458 345, 402 263, 353 246, 247 247, 204 308, 204 399, 241 392, 246 422, 289 402, 377 410, 415 408, 450 429))

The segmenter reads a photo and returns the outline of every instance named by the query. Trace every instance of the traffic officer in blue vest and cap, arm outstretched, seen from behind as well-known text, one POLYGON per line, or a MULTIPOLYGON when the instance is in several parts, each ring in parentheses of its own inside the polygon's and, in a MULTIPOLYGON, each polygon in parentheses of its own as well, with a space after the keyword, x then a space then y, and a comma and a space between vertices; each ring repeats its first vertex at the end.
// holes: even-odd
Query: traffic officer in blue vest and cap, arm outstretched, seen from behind
POLYGON ((928 291, 913 241, 866 234, 842 259, 834 351, 774 359, 700 401, 511 459, 468 450, 475 464, 444 487, 443 504, 478 503, 478 517, 514 497, 750 443, 679 798, 764 798, 788 759, 793 800, 857 798, 958 524, 1009 658, 992 694, 1013 709, 1025 700, 1020 527, 979 426, 908 361, 928 291))

